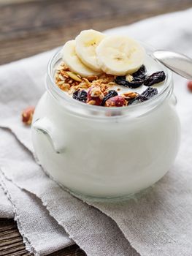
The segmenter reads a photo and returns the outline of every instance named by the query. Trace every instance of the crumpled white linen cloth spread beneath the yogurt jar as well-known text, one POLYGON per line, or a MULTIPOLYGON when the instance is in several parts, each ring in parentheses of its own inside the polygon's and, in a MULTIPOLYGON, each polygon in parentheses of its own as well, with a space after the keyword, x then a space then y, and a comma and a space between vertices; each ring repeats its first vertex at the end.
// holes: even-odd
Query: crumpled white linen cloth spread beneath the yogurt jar
MULTIPOLYGON (((107 33, 128 34, 155 48, 177 50, 192 56, 191 21, 190 9, 142 20, 107 33)), ((30 153, 33 149, 29 129, 19 120, 20 111, 28 105, 35 105, 44 91, 43 79, 50 54, 42 53, 0 68, 0 127, 9 129, 1 129, 0 132, 2 187, 8 190, 8 195, 12 194, 14 187, 17 190, 20 188, 20 193, 28 191, 29 195, 39 197, 42 208, 47 208, 50 216, 63 228, 62 232, 66 230, 87 255, 191 255, 192 95, 186 89, 186 81, 174 77, 182 143, 172 170, 147 193, 133 200, 92 203, 92 207, 58 187, 34 162, 30 153)), ((33 203, 35 206, 36 200, 33 203)), ((25 225, 20 204, 16 200, 14 204, 25 225)), ((40 226, 38 228, 41 232, 40 226)), ((28 233, 23 236, 28 238, 30 244, 32 238, 28 233)), ((66 240, 58 249, 72 243, 69 238, 67 240, 66 233, 63 236, 66 240)), ((49 251, 40 247, 33 249, 37 255, 49 251)))

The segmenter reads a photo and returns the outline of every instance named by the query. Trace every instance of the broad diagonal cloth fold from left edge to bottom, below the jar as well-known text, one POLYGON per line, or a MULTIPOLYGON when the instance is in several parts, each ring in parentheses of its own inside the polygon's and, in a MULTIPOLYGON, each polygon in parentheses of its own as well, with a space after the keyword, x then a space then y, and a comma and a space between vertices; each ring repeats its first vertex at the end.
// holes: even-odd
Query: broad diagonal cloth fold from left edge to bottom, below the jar
POLYGON ((138 255, 111 218, 59 187, 7 129, 0 129, 0 133, 4 137, 0 141, 0 148, 5 148, 4 152, 0 151, 4 176, 20 189, 39 197, 50 216, 88 256, 138 255), (12 145, 12 159, 7 145, 12 145))

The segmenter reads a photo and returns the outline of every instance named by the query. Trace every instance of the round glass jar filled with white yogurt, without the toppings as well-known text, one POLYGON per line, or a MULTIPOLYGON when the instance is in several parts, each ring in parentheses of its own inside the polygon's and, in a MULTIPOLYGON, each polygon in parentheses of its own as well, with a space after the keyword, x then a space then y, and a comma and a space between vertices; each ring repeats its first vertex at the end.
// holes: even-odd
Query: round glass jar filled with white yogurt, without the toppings
MULTIPOLYGON (((147 54, 150 47, 145 45, 147 54)), ((61 51, 47 67, 47 91, 34 113, 40 164, 77 197, 125 197, 150 187, 174 162, 180 144, 172 72, 164 89, 137 105, 104 108, 67 96, 54 83, 61 51)))

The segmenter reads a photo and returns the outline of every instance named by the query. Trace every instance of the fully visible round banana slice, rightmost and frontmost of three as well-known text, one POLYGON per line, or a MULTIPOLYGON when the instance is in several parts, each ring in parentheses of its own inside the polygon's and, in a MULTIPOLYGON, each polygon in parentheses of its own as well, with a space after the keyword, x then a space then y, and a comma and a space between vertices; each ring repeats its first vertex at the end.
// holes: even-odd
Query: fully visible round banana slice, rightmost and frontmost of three
POLYGON ((145 59, 145 49, 130 37, 114 35, 105 37, 96 48, 101 69, 111 75, 136 72, 145 59))

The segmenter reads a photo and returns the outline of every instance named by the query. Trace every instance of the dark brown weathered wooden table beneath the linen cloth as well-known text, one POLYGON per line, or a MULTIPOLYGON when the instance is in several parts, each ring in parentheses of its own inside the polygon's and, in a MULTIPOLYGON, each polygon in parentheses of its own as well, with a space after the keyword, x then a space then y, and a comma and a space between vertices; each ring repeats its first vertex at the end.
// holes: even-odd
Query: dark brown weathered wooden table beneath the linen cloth
MULTIPOLYGON (((192 0, 0 0, 0 64, 63 45, 82 29, 102 31, 188 7, 192 0)), ((12 219, 0 219, 0 255, 31 255, 12 219)), ((85 253, 74 245, 52 255, 85 253)))

